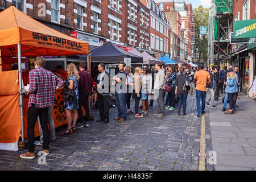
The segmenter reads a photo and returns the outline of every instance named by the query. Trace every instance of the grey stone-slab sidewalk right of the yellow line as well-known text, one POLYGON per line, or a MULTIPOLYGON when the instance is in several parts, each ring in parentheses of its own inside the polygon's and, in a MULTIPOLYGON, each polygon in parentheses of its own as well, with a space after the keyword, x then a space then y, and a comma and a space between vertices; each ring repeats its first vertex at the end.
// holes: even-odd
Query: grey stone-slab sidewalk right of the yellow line
POLYGON ((221 111, 221 101, 217 109, 208 107, 216 171, 256 171, 256 102, 243 93, 238 98, 232 115, 221 111))

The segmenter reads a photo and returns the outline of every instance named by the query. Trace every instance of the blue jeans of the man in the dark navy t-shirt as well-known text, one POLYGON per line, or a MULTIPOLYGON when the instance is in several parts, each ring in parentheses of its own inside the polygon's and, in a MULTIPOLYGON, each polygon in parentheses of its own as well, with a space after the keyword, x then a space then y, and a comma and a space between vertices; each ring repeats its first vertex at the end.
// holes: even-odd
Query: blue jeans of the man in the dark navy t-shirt
POLYGON ((118 117, 126 119, 127 107, 126 107, 126 94, 115 92, 115 100, 117 102, 118 117))

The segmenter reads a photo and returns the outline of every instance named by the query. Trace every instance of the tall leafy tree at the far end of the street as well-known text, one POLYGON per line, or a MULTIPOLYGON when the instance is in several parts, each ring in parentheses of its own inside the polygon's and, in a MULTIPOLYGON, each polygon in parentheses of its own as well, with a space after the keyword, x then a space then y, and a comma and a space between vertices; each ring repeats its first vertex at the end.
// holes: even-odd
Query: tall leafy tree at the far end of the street
POLYGON ((208 36, 200 35, 200 27, 208 28, 209 9, 202 5, 193 10, 195 13, 195 55, 196 60, 207 61, 208 36))

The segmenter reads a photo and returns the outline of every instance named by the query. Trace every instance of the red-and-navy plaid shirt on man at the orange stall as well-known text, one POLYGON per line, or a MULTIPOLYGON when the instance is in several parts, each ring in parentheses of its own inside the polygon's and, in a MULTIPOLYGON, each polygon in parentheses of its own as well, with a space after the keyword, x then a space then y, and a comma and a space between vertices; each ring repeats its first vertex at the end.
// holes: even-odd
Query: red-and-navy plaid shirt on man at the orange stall
POLYGON ((36 107, 43 108, 52 106, 55 100, 56 86, 61 87, 64 81, 47 71, 38 67, 30 71, 30 98, 28 107, 34 104, 36 107))

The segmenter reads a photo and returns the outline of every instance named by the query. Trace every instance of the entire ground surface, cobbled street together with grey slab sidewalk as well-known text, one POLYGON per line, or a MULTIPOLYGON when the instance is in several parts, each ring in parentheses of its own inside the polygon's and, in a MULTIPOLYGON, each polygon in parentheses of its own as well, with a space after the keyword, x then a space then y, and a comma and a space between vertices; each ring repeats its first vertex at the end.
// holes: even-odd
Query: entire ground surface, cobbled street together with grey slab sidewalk
POLYGON ((0 150, 0 170, 255 170, 256 102, 242 93, 238 97, 236 114, 225 115, 218 101, 216 109, 206 106, 200 118, 195 95, 188 96, 187 115, 166 110, 161 119, 153 115, 156 101, 143 118, 128 115, 124 123, 114 121, 116 107, 110 109, 108 124, 96 122, 99 113, 92 110, 90 126, 71 135, 62 134, 67 125, 56 129, 57 141, 50 143, 46 163, 38 155, 41 146, 36 146, 32 160, 19 158, 26 150, 0 150))

